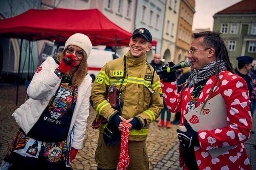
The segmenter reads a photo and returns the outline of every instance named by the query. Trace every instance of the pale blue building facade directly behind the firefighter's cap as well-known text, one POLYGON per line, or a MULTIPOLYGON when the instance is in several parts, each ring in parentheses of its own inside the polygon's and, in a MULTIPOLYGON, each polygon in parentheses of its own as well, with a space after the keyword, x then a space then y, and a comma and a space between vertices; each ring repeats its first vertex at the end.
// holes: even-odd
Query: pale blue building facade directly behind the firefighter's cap
POLYGON ((157 41, 157 47, 147 53, 147 60, 153 59, 154 53, 160 53, 162 47, 162 27, 165 14, 165 0, 137 0, 135 28, 147 28, 157 41))

